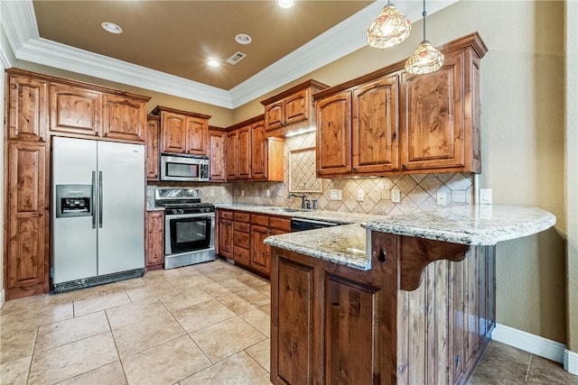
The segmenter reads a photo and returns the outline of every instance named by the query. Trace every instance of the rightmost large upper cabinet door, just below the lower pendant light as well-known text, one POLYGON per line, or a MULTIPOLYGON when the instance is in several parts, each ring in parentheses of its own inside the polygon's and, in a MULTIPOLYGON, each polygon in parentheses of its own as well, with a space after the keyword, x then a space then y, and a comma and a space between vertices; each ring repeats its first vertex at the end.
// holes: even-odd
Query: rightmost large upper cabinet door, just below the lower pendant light
POLYGON ((464 166, 462 77, 463 55, 447 55, 442 69, 431 74, 402 74, 400 157, 403 170, 464 166))

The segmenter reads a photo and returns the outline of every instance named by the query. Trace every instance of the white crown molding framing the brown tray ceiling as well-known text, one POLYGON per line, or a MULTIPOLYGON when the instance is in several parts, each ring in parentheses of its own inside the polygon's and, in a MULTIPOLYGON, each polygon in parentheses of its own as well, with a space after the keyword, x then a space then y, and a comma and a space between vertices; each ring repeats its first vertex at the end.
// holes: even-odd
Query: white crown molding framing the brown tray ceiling
MULTIPOLYGON (((428 14, 433 14, 457 1, 459 0, 432 1, 428 4, 428 14)), ((383 5, 383 0, 368 5, 359 13, 353 14, 350 18, 323 32, 312 41, 230 90, 211 87, 200 82, 42 39, 39 36, 32 0, 0 1, 2 7, 0 11, 5 14, 5 17, 2 18, 2 25, 5 28, 6 37, 12 47, 14 57, 18 60, 32 61, 95 78, 104 78, 232 109, 363 48, 366 45, 367 26, 376 17, 383 5)), ((403 2, 403 11, 415 23, 422 18, 422 2, 405 1, 403 2)))

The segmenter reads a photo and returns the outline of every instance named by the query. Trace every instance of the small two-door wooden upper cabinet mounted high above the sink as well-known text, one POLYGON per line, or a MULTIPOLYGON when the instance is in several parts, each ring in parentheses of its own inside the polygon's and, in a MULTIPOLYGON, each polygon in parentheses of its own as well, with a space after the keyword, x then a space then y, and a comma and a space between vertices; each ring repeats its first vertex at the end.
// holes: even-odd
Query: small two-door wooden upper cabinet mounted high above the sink
POLYGON ((318 81, 307 80, 263 100, 266 136, 283 136, 291 130, 314 124, 312 94, 327 87, 318 81))

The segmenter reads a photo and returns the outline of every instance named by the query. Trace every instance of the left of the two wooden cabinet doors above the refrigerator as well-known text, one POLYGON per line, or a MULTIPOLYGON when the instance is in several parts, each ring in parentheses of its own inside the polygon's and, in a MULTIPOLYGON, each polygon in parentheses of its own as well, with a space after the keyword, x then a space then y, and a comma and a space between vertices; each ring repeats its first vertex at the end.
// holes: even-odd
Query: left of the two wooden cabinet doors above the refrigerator
POLYGON ((99 136, 101 117, 99 92, 51 84, 51 132, 99 136))

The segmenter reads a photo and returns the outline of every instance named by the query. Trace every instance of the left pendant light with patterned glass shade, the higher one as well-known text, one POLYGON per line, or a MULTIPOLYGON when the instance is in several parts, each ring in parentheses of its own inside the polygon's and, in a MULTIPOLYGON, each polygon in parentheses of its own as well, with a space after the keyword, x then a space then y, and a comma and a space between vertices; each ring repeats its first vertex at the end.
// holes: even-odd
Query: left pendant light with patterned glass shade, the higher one
POLYGON ((412 23, 388 0, 378 18, 368 27, 368 44, 375 48, 393 47, 405 41, 410 32, 412 23))

